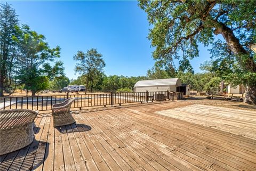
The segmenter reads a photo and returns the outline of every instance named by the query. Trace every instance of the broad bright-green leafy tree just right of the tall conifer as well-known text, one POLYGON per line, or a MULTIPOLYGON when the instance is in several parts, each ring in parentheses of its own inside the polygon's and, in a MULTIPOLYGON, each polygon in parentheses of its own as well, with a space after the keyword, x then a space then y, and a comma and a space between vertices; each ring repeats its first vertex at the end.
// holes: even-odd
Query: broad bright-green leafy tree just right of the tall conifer
POLYGON ((25 84, 27 89, 31 88, 34 95, 35 92, 42 90, 42 87, 46 87, 36 83, 36 80, 43 79, 43 76, 52 79, 64 75, 63 62, 57 61, 53 67, 47 63, 59 58, 60 47, 50 48, 45 42, 45 36, 30 30, 27 25, 17 29, 19 35, 16 37, 16 42, 19 55, 16 59, 18 71, 15 78, 19 84, 25 84))

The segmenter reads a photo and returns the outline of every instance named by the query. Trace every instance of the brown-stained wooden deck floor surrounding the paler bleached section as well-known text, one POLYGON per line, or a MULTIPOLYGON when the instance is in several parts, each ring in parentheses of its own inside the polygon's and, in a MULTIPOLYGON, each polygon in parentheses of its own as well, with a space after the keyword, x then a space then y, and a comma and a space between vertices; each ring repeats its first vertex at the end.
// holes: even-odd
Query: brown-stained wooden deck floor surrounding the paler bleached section
MULTIPOLYGON (((35 141, 26 148, 1 156, 0 168, 256 169, 255 140, 157 113, 187 105, 186 102, 167 102, 74 111, 76 124, 58 129, 52 126, 51 113, 41 114, 35 120, 35 141)), ((212 116, 211 119, 219 118, 212 116)), ((255 121, 255 118, 250 119, 255 121)))

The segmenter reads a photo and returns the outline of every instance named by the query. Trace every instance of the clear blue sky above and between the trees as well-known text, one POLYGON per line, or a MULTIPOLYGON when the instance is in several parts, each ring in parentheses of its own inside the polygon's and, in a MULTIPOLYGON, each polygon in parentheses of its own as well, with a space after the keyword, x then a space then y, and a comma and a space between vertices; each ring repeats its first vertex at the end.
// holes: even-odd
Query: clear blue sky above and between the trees
MULTIPOLYGON (((64 62, 66 76, 70 79, 78 76, 73 55, 90 48, 97 48, 103 55, 107 76, 145 76, 154 66, 153 48, 147 39, 150 26, 137 1, 8 3, 13 5, 20 23, 45 35, 51 47, 61 47, 59 60, 64 62)), ((199 45, 199 50, 199 58, 191 61, 195 72, 201 72, 200 63, 210 59, 207 47, 199 45)))

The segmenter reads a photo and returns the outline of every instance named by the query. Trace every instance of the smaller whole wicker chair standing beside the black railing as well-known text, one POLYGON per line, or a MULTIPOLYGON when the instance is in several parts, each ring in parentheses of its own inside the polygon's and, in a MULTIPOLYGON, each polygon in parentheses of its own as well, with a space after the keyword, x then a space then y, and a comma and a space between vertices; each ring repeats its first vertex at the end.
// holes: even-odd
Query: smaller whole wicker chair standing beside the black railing
POLYGON ((75 119, 70 113, 70 107, 75 98, 69 98, 62 103, 52 105, 53 126, 62 126, 75 123, 75 119))

